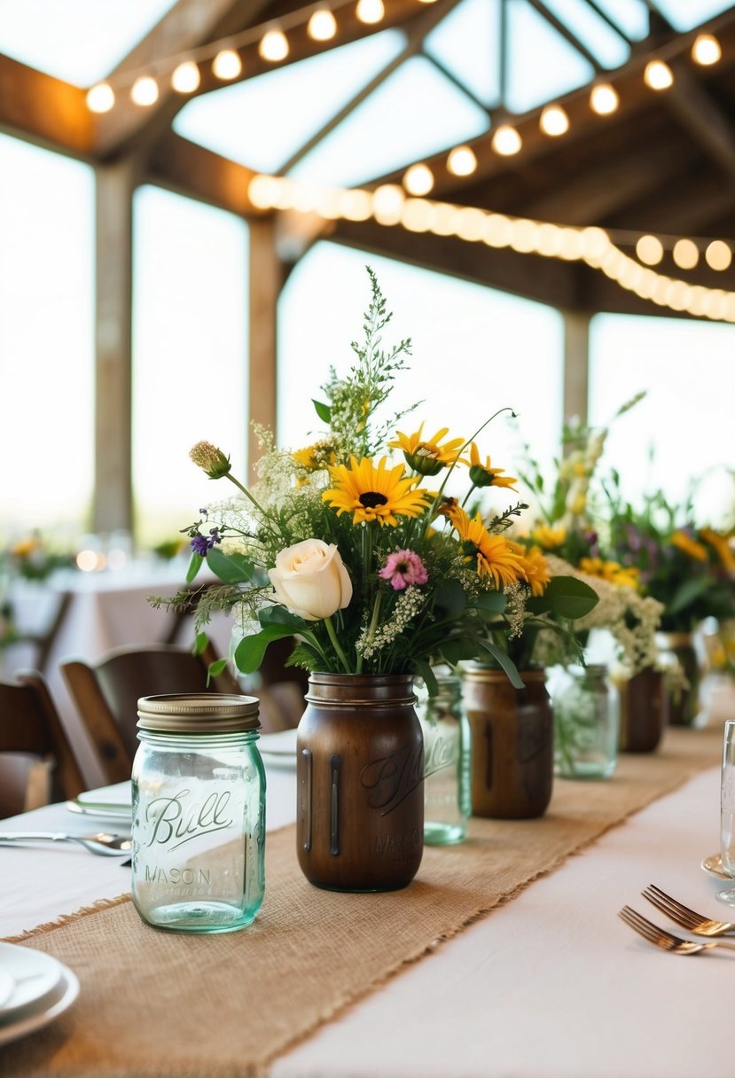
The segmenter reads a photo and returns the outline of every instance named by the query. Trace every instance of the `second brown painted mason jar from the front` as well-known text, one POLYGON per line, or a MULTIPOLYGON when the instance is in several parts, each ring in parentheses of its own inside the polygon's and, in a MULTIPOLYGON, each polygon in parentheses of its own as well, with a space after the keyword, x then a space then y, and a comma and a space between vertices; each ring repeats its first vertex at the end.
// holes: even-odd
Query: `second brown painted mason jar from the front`
POLYGON ((542 816, 554 784, 554 713, 544 671, 521 673, 514 689, 502 671, 462 674, 472 730, 472 814, 495 819, 542 816))

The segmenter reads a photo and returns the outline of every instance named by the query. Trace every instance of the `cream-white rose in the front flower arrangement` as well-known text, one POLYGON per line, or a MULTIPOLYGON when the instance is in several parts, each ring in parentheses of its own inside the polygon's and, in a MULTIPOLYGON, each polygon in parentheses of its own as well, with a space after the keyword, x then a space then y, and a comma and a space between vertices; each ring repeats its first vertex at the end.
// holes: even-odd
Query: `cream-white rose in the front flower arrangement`
POLYGON ((352 598, 352 581, 336 543, 304 539, 287 547, 268 569, 276 597, 305 621, 321 621, 344 609, 352 598))

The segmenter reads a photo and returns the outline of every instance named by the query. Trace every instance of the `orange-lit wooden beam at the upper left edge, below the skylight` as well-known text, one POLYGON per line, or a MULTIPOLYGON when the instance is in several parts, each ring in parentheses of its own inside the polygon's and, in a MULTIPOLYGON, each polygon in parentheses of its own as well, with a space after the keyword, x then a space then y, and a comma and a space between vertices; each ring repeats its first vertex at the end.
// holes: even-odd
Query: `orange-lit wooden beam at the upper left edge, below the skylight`
POLYGON ((84 91, 0 56, 0 128, 50 150, 88 158, 94 125, 84 91))

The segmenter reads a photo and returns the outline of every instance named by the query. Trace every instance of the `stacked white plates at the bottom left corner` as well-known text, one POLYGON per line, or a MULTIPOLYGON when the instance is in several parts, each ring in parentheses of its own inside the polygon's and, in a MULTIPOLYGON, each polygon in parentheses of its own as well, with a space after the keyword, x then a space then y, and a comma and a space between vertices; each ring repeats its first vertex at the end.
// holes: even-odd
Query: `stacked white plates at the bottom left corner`
POLYGON ((42 951, 0 943, 0 1045, 58 1018, 79 995, 79 981, 42 951))

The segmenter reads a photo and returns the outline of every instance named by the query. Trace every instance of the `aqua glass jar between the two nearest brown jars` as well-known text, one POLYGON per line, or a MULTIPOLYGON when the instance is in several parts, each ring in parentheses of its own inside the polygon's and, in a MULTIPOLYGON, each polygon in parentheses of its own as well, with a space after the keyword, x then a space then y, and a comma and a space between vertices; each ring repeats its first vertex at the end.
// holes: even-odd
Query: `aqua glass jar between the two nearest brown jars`
POLYGON ((470 721, 461 678, 436 674, 430 696, 415 678, 416 714, 424 734, 424 842, 446 846, 461 842, 471 813, 470 721))

